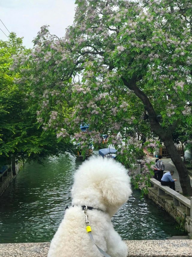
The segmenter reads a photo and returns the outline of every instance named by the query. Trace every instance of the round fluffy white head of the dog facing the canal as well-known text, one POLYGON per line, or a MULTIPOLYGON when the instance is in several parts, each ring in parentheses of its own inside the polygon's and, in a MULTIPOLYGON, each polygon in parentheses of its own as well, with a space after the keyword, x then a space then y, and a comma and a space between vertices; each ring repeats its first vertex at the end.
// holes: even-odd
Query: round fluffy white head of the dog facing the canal
POLYGON ((130 195, 127 170, 113 159, 91 158, 75 174, 72 205, 100 208, 113 216, 130 195))

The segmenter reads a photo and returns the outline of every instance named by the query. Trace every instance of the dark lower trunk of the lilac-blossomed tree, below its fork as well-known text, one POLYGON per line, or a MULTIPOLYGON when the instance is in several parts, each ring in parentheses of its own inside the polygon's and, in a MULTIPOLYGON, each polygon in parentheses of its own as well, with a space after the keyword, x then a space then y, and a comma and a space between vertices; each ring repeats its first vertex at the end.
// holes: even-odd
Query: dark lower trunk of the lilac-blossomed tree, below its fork
POLYGON ((163 142, 164 142, 164 145, 166 146, 167 151, 170 154, 173 164, 175 165, 178 171, 179 182, 182 187, 183 195, 192 196, 192 188, 190 185, 190 178, 188 175, 187 168, 185 167, 184 162, 182 161, 182 158, 177 152, 177 149, 176 149, 176 146, 174 145, 173 140, 170 138, 170 139, 164 140, 163 142))

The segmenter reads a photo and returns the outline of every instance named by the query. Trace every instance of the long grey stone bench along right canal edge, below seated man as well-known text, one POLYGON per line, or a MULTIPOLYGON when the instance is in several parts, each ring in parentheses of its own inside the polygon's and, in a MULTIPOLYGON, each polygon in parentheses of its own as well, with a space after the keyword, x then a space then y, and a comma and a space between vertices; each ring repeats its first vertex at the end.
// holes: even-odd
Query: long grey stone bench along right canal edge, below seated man
POLYGON ((173 204, 175 206, 180 205, 182 203, 186 208, 186 214, 190 215, 192 218, 192 197, 188 199, 187 197, 181 195, 180 193, 176 192, 175 190, 171 189, 168 186, 162 186, 161 182, 156 180, 155 178, 151 178, 150 182, 153 186, 158 188, 158 195, 164 195, 165 193, 173 197, 173 204))

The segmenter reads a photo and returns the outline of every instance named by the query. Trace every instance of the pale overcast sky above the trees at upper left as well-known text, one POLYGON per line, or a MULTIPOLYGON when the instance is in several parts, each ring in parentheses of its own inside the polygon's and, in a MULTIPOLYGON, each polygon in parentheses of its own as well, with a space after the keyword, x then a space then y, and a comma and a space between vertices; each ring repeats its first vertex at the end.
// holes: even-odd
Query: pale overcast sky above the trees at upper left
MULTIPOLYGON (((0 0, 0 19, 31 48, 42 25, 49 25, 50 32, 58 37, 64 36, 65 28, 73 24, 74 9, 75 0, 0 0)), ((0 28, 8 36, 1 21, 0 28)), ((1 30, 0 39, 7 40, 1 30)))

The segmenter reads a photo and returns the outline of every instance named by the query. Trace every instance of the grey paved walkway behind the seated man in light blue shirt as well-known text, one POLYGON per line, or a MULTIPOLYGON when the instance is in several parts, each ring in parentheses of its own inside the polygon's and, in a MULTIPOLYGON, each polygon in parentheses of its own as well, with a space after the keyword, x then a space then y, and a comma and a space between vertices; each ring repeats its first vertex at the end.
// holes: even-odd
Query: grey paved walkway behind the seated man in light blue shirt
MULTIPOLYGON (((150 158, 151 161, 154 161, 156 160, 156 158, 150 158)), ((168 159, 162 159, 163 160, 163 163, 165 165, 165 171, 170 171, 170 170, 173 170, 174 171, 174 174, 173 174, 173 179, 174 178, 177 178, 178 180, 175 182, 175 188, 176 188, 176 191, 179 190, 179 192, 182 192, 182 188, 181 188, 181 184, 179 182, 179 174, 178 174, 178 171, 176 170, 176 167, 175 165, 173 164, 172 160, 170 158, 168 159)), ((189 174, 190 175, 190 174, 189 174)), ((190 182, 191 182, 191 186, 192 186, 192 176, 190 176, 190 182)))

